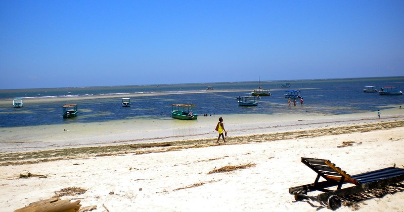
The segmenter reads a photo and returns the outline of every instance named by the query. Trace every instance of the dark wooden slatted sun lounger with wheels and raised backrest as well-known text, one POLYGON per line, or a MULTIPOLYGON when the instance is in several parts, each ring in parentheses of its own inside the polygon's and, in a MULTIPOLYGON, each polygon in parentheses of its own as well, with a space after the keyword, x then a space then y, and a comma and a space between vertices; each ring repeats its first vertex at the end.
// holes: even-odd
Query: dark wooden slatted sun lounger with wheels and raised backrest
POLYGON ((329 160, 315 158, 301 158, 301 162, 317 173, 314 183, 289 188, 289 193, 295 196, 295 200, 310 199, 326 205, 335 210, 341 206, 339 197, 360 193, 368 189, 381 188, 383 186, 401 182, 404 180, 404 169, 387 167, 357 175, 348 175, 329 160), (326 181, 321 181, 320 177, 326 181), (342 188, 345 183, 353 186, 342 188), (330 187, 337 187, 335 190, 330 187), (317 196, 307 195, 311 191, 321 191, 317 196))

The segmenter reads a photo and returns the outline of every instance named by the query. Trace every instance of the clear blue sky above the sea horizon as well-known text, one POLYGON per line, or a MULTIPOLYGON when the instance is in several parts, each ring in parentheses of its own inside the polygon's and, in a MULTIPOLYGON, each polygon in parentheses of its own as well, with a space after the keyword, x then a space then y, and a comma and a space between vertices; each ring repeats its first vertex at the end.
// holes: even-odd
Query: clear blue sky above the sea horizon
POLYGON ((0 89, 403 76, 404 1, 0 1, 0 89))

